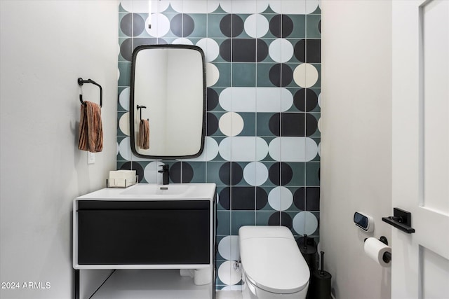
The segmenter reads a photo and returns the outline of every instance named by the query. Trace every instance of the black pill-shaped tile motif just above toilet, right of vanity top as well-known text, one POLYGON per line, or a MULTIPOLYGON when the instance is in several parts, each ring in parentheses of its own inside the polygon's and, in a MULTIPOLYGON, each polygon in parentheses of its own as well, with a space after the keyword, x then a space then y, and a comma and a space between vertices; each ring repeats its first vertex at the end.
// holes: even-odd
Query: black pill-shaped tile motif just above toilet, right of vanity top
POLYGON ((226 187, 220 192, 219 201, 225 209, 254 211, 267 205, 268 195, 260 187, 226 187))

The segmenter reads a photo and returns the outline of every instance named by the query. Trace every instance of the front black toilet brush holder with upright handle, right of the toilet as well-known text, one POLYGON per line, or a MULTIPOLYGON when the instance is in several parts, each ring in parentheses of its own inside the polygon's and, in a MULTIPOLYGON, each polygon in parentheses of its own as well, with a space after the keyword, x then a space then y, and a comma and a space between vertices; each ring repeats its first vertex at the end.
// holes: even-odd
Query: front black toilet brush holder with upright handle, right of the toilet
POLYGON ((307 299, 331 299, 332 275, 324 270, 324 252, 321 251, 321 269, 311 272, 307 299))

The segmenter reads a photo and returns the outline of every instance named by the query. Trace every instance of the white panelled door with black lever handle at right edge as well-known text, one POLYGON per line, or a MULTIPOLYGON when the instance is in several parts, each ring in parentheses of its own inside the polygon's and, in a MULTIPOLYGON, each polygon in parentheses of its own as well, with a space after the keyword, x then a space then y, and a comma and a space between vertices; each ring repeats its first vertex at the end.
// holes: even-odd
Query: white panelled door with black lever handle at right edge
POLYGON ((449 298, 449 1, 393 0, 391 298, 449 298))

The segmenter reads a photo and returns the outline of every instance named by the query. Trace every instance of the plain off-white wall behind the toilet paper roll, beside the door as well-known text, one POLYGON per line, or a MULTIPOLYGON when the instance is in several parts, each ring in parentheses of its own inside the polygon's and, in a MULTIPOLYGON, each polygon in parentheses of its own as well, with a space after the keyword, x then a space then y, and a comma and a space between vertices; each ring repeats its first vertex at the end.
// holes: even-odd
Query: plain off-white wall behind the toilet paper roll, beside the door
MULTIPOLYGON (((363 239, 391 227, 391 2, 321 1, 321 245, 337 299, 391 298, 391 272, 363 239), (375 219, 374 233, 353 223, 375 219)), ((394 249, 393 249, 394 252, 394 249)), ((394 253, 393 253, 394 256, 394 253)))

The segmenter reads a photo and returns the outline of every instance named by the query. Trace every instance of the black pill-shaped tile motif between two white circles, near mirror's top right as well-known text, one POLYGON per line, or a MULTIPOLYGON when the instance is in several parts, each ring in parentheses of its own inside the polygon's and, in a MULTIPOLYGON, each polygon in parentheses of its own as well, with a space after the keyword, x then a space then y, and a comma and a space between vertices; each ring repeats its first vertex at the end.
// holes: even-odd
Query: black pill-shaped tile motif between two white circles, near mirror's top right
POLYGON ((262 39, 226 39, 220 45, 220 55, 227 62, 261 62, 268 55, 262 39))

